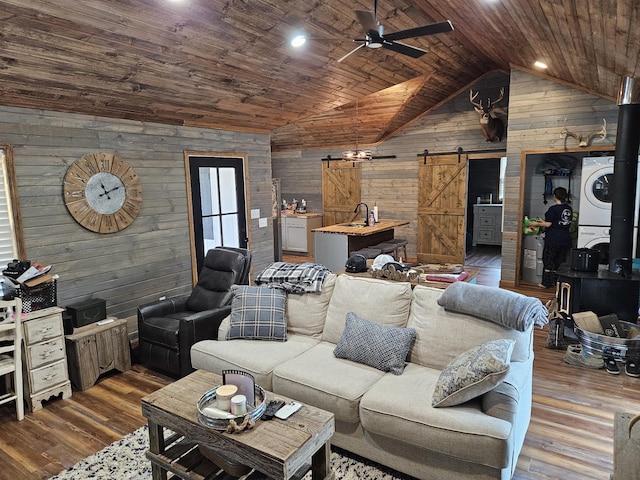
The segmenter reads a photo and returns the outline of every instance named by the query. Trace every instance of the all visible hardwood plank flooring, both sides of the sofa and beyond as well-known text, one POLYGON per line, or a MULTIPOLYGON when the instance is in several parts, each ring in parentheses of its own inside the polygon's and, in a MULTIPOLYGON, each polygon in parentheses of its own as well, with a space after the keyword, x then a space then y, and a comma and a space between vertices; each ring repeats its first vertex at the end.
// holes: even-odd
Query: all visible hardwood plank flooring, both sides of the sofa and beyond
MULTIPOLYGON (((491 270, 485 273, 478 283, 496 278, 491 270)), ((553 293, 529 290, 542 298, 553 293)), ((535 332, 532 419, 513 479, 609 480, 614 413, 640 413, 640 379, 567 365, 564 352, 544 347, 546 336, 546 330, 535 332)), ((47 402, 22 422, 2 406, 0 480, 49 478, 144 425, 140 399, 170 381, 134 365, 67 400, 47 402)))

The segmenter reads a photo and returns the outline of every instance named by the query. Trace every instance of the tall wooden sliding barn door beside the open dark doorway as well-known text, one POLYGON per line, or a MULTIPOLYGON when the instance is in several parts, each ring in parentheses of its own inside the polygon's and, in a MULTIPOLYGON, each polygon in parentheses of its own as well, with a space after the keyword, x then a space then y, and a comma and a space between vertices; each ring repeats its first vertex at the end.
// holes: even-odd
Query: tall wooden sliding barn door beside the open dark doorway
POLYGON ((464 263, 467 155, 427 156, 418 168, 418 261, 464 263))

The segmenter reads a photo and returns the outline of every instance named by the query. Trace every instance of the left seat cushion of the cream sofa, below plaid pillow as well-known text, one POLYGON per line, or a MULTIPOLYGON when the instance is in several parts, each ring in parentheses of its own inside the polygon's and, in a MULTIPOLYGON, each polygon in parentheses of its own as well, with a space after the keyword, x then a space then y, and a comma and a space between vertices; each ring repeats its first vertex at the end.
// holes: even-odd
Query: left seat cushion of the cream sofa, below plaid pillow
POLYGON ((203 340, 191 347, 191 366, 219 375, 222 370, 243 370, 253 375, 262 388, 271 390, 273 369, 309 350, 318 342, 319 340, 304 335, 289 335, 286 342, 203 340))

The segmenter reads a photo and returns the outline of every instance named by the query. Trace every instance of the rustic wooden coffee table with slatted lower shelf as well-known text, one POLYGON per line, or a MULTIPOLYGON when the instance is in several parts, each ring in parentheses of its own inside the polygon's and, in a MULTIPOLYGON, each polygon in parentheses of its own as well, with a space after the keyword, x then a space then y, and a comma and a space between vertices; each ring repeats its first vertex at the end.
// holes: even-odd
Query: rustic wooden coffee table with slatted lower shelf
MULTIPOLYGON (((214 430, 198 421, 196 405, 205 392, 221 384, 219 375, 198 370, 142 399, 154 480, 165 480, 168 472, 182 479, 228 478, 202 455, 199 444, 268 478, 301 478, 309 468, 313 480, 334 478, 329 462, 333 413, 303 405, 287 420, 258 420, 253 429, 233 434, 214 430), (165 429, 175 434, 165 438, 165 429)), ((267 401, 289 400, 266 393, 267 401)))

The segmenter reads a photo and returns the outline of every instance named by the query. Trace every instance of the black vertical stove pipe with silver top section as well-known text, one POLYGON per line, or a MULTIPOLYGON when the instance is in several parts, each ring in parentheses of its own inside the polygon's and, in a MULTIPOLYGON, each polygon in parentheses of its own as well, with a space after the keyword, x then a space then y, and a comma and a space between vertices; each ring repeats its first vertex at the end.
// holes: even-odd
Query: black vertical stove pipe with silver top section
POLYGON ((630 259, 637 257, 632 250, 640 147, 640 80, 630 77, 622 79, 618 105, 618 132, 611 185, 609 271, 626 275, 631 273, 630 259))

